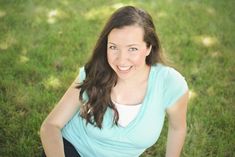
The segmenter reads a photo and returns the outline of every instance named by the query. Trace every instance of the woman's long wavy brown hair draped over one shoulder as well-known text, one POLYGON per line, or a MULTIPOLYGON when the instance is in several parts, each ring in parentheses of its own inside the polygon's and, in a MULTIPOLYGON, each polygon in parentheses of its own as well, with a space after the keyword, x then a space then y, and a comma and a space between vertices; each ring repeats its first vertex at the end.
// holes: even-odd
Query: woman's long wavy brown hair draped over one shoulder
POLYGON ((161 57, 160 42, 155 32, 152 17, 144 10, 133 6, 125 6, 115 11, 104 26, 90 60, 85 64, 85 80, 78 85, 80 100, 84 102, 80 115, 91 123, 102 128, 104 113, 110 107, 114 111, 114 124, 118 121, 118 111, 111 100, 111 90, 117 83, 117 75, 107 61, 108 35, 114 28, 138 25, 144 30, 144 41, 147 47, 152 46, 150 54, 146 57, 146 64, 164 63, 161 57), (88 100, 83 100, 83 94, 88 100))

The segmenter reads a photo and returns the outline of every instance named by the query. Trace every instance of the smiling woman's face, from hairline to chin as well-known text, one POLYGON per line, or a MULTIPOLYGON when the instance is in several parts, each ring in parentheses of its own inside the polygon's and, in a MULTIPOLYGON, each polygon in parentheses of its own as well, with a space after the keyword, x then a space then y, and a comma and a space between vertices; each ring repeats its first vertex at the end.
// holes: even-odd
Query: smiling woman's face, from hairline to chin
POLYGON ((125 26, 113 29, 108 35, 107 59, 119 79, 143 75, 148 68, 145 59, 149 55, 143 40, 144 30, 140 26, 125 26))

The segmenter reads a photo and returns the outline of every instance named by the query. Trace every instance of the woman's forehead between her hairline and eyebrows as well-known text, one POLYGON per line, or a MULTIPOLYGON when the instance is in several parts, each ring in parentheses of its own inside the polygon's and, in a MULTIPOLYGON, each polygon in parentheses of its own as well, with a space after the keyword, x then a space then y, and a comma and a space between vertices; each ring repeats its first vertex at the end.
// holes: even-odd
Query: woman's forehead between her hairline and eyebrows
POLYGON ((127 45, 130 43, 143 43, 144 30, 142 27, 133 25, 122 28, 114 28, 108 35, 108 42, 127 45))

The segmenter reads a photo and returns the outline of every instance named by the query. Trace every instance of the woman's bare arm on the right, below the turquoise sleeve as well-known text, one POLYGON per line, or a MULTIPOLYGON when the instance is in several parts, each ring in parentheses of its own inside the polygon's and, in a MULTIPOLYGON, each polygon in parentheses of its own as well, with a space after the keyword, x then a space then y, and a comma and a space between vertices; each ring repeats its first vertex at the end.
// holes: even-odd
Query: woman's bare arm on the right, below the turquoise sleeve
POLYGON ((172 107, 167 109, 169 128, 167 137, 166 157, 180 157, 187 132, 187 91, 172 107))

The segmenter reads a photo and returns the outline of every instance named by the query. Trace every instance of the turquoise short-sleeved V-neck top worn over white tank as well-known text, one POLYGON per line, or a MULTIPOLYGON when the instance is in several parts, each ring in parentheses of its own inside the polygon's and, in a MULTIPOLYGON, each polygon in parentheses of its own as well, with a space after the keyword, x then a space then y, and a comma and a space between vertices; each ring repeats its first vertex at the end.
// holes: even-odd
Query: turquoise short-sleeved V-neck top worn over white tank
MULTIPOLYGON (((80 80, 84 80, 84 68, 80 80)), ((79 111, 62 129, 62 136, 82 157, 138 157, 151 147, 161 133, 165 111, 188 90, 184 77, 175 69, 151 66, 148 87, 139 113, 126 127, 113 125, 108 108, 99 129, 79 116, 79 111)))

